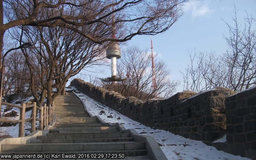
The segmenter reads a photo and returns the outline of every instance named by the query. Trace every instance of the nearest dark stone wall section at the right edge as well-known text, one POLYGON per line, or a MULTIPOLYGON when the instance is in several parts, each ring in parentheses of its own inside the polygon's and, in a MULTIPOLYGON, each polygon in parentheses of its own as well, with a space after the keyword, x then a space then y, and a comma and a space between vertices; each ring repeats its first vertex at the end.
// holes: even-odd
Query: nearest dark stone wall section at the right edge
POLYGON ((229 153, 256 159, 256 87, 225 100, 229 153))

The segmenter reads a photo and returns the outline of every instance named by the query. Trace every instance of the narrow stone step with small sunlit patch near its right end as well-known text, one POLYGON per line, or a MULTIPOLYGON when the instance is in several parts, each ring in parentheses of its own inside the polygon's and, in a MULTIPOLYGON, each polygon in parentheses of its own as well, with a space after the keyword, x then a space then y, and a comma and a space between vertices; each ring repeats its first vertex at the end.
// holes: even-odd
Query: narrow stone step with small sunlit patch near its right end
POLYGON ((118 127, 55 127, 50 128, 50 131, 54 130, 112 130, 118 129, 118 127))

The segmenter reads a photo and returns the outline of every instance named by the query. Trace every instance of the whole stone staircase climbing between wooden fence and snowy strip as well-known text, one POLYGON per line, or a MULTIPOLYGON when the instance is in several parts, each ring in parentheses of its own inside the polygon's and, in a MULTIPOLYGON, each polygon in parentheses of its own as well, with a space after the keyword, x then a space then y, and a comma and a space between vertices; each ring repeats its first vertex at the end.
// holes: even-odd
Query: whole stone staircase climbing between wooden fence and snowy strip
POLYGON ((30 144, 3 144, 1 154, 124 154, 125 159, 150 159, 145 143, 135 142, 118 126, 99 123, 90 117, 72 92, 55 100, 56 123, 50 132, 30 144))

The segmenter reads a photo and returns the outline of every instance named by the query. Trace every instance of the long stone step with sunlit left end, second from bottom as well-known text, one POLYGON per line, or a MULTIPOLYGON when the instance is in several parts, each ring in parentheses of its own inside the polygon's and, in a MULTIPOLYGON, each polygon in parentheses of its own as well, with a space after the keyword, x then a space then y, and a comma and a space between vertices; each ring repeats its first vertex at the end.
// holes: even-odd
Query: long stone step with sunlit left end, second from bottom
POLYGON ((2 144, 2 151, 111 151, 144 150, 142 142, 94 142, 52 144, 2 144))

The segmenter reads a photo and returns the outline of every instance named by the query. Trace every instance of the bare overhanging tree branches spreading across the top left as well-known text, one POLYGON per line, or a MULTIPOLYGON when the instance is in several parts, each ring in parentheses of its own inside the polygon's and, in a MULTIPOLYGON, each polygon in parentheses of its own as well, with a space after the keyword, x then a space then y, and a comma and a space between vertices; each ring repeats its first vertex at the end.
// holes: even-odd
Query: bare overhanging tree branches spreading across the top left
POLYGON ((64 27, 98 44, 158 34, 183 14, 181 6, 186 1, 0 0, 0 54, 5 31, 21 25, 64 27), (110 38, 113 25, 118 31, 116 38, 110 38))

